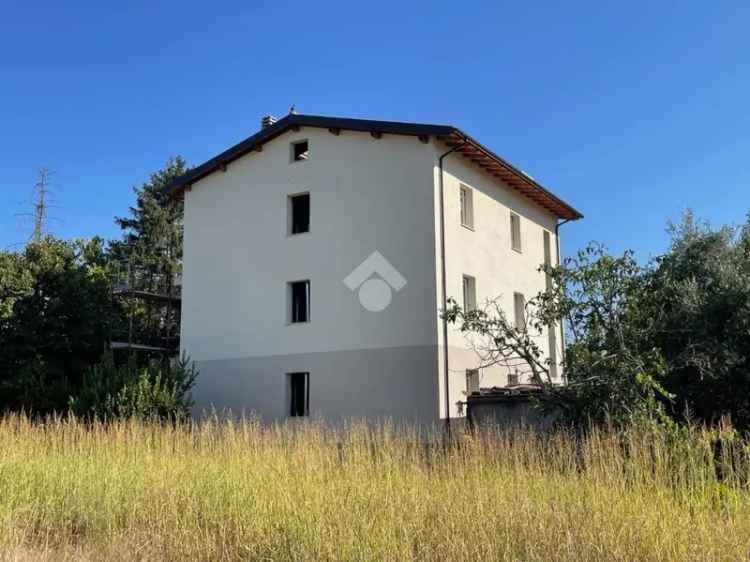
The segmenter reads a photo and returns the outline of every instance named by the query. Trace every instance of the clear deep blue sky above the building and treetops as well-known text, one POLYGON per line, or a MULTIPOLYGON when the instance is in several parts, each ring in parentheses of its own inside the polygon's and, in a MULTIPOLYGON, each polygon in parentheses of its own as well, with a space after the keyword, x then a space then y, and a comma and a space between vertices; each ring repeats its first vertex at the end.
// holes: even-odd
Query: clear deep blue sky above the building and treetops
POLYGON ((265 113, 456 125, 645 258, 750 208, 748 2, 15 2, 0 19, 0 248, 36 171, 53 232, 117 236, 131 188, 265 113))

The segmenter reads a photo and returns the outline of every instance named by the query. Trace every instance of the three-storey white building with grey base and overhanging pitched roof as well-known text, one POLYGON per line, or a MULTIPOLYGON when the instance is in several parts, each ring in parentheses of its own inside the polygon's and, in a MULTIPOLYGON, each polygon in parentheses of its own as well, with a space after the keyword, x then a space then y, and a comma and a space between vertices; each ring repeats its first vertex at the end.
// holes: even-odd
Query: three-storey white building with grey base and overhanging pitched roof
MULTIPOLYGON (((472 371, 444 297, 512 314, 544 288, 559 221, 581 218, 455 127, 296 114, 169 189, 185 198, 196 408, 265 420, 429 423, 460 415, 467 389, 516 382, 472 371)), ((555 359, 561 340, 559 327, 546 338, 555 359)))

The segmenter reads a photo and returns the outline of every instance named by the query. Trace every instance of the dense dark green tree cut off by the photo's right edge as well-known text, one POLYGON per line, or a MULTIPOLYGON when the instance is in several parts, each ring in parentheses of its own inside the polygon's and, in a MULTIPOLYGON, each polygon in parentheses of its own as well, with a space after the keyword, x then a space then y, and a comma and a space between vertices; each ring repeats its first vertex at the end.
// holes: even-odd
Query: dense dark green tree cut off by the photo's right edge
POLYGON ((669 232, 646 295, 673 415, 750 429, 750 215, 714 229, 688 212, 669 232))

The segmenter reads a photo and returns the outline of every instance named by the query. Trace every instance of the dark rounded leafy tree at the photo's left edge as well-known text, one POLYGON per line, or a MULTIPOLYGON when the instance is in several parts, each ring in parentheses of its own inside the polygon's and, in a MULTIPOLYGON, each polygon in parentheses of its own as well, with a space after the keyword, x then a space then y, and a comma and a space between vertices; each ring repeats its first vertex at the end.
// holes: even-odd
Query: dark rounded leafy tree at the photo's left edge
POLYGON ((101 239, 0 253, 0 408, 66 408, 115 317, 105 263, 101 239))

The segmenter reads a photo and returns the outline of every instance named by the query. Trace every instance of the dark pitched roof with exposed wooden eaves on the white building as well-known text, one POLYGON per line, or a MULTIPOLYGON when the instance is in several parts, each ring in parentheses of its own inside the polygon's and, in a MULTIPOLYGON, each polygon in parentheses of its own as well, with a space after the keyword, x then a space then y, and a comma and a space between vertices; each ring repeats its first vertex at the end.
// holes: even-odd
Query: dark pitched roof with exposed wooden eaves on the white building
POLYGON ((502 179, 511 188, 529 197, 558 217, 569 220, 583 217, 580 212, 548 191, 532 177, 503 160, 460 129, 451 125, 372 121, 369 119, 322 117, 318 115, 287 115, 273 125, 261 129, 251 137, 246 138, 242 142, 183 174, 165 189, 172 194, 180 193, 184 188, 189 187, 194 182, 216 170, 226 168, 227 164, 233 160, 254 150, 262 150, 263 144, 290 129, 297 130, 300 127, 317 127, 329 129, 332 132, 362 131, 381 135, 409 135, 423 138, 434 136, 447 146, 455 148, 457 154, 469 159, 487 173, 502 179))

